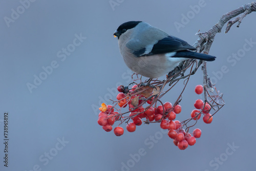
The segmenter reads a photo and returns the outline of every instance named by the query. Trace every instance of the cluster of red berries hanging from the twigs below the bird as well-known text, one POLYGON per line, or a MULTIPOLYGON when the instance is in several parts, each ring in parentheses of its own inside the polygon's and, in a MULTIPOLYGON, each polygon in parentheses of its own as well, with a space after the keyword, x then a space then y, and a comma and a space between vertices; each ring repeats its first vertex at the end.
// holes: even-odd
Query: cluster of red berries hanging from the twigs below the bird
MULTIPOLYGON (((201 130, 195 129, 193 134, 190 134, 188 131, 191 126, 187 126, 187 123, 191 120, 196 120, 197 122, 201 114, 204 115, 203 121, 205 123, 211 123, 212 116, 209 114, 211 106, 201 99, 196 100, 194 104, 196 109, 191 112, 191 118, 180 122, 175 119, 176 114, 181 113, 181 105, 177 104, 177 101, 174 105, 170 102, 162 103, 156 99, 156 95, 154 95, 152 89, 148 86, 139 88, 137 84, 131 90, 127 87, 119 86, 117 90, 120 93, 116 97, 116 104, 112 106, 102 103, 101 108, 99 108, 101 112, 99 113, 98 124, 102 126, 103 130, 110 132, 115 121, 120 121, 120 124, 126 122, 126 130, 128 132, 134 132, 136 131, 136 127, 141 125, 142 122, 158 122, 160 123, 161 129, 169 130, 168 136, 174 139, 174 144, 179 149, 186 149, 188 145, 194 145, 196 138, 200 138, 201 136, 201 130), (160 105, 157 105, 157 102, 160 102, 160 105), (146 105, 146 103, 149 105, 144 108, 143 105, 146 105), (116 105, 119 105, 120 109, 117 109, 115 107, 116 105), (129 112, 121 113, 121 109, 126 108, 126 106, 129 108, 129 112), (128 113, 129 116, 124 116, 124 114, 128 115, 128 113), (186 126, 186 129, 183 129, 184 126, 186 126)), ((196 86, 195 92, 197 94, 201 94, 203 91, 203 86, 196 86)), ((114 129, 116 136, 121 136, 124 133, 123 128, 119 125, 114 129)))

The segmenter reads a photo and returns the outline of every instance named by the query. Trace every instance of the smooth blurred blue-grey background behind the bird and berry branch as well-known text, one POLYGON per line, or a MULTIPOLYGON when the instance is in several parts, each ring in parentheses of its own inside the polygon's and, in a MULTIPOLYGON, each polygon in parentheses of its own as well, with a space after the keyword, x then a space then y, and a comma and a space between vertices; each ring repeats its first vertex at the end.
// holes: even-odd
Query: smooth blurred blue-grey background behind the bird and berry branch
MULTIPOLYGON (((12 9, 22 10, 21 3, 0 2, 0 170, 252 170, 256 152, 255 13, 246 16, 240 28, 234 26, 228 34, 222 29, 215 38, 210 54, 217 60, 208 62, 208 72, 224 93, 226 105, 211 124, 200 120, 195 126, 202 136, 194 146, 180 151, 159 124, 142 125, 134 133, 124 131, 116 137, 97 124, 95 110, 99 103, 110 104, 108 99, 115 99, 116 84, 131 82, 131 72, 113 37, 120 24, 143 20, 193 45, 198 30, 207 31, 224 13, 251 0, 113 1, 113 8, 109 0, 35 1, 9 27, 4 18, 11 18, 12 9), (192 12, 193 16, 191 6, 200 3, 203 7, 192 12), (191 16, 177 29, 174 23, 182 24, 182 14, 191 16), (76 35, 87 38, 67 58, 59 58, 57 53, 72 47, 76 35), (247 43, 250 39, 254 44, 247 43), (242 57, 232 58, 237 53, 242 57), (58 67, 30 92, 27 84, 34 84, 34 75, 39 76, 42 67, 52 61, 58 67), (9 113, 8 168, 3 162, 5 112, 9 113), (158 141, 148 139, 155 135, 158 141), (62 146, 60 139, 65 140, 62 146), (133 159, 141 148, 145 155, 133 159)), ((201 98, 194 88, 201 83, 199 70, 184 92, 177 119, 190 116, 194 101, 201 98)), ((180 93, 178 87, 163 101, 173 103, 180 93)))

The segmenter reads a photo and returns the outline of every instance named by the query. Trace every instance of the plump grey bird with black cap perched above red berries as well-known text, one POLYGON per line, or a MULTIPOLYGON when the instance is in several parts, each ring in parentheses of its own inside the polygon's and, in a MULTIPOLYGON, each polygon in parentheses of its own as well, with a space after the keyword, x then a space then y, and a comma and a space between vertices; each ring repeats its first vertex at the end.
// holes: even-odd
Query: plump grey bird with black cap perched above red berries
POLYGON ((114 32, 121 56, 128 68, 148 78, 159 78, 175 69, 181 61, 214 61, 215 56, 193 52, 186 41, 142 21, 121 24, 114 32))

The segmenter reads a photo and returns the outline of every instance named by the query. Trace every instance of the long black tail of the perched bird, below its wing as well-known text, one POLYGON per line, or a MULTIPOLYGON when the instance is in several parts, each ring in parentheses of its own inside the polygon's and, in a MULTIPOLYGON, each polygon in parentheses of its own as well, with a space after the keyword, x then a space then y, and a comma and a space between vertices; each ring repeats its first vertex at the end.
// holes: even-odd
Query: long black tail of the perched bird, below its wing
POLYGON ((192 51, 178 51, 174 56, 172 57, 185 57, 185 58, 192 58, 192 59, 200 59, 200 60, 206 60, 206 61, 214 61, 215 56, 206 55, 203 53, 197 53, 192 51))

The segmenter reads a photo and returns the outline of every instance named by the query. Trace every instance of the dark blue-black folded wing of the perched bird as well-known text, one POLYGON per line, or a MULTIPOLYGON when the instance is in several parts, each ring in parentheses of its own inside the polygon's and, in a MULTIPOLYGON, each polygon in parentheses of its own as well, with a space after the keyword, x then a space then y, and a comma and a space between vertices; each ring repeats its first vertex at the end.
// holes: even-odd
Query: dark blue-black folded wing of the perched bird
POLYGON ((143 56, 156 55, 161 53, 177 52, 182 50, 196 50, 195 47, 190 46, 186 41, 174 37, 168 36, 159 40, 152 48, 150 53, 143 56))

